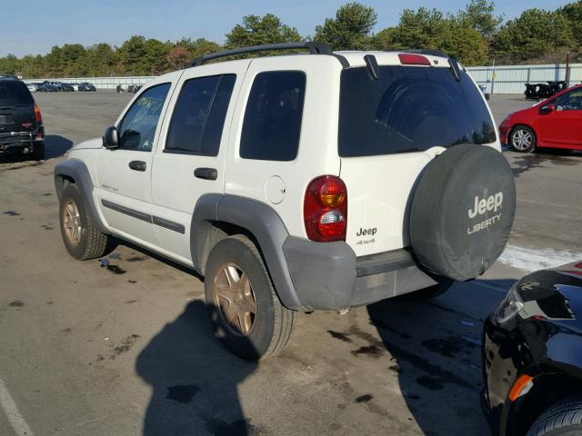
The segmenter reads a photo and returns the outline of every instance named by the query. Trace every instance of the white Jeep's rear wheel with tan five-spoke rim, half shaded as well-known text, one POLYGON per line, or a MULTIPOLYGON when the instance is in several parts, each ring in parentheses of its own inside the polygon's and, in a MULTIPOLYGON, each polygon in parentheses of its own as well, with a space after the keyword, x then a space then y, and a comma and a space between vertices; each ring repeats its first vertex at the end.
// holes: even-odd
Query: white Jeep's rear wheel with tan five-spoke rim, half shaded
POLYGON ((216 243, 206 263, 205 295, 216 336, 238 357, 255 361, 285 348, 295 312, 279 302, 261 254, 246 236, 216 243))

